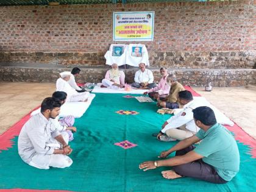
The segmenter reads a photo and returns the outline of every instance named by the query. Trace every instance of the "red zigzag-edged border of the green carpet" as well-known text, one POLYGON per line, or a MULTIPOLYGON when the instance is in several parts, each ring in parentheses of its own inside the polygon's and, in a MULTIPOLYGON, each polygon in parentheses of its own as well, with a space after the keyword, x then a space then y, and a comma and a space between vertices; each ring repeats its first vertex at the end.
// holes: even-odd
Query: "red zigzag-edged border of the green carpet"
MULTIPOLYGON (((185 86, 186 90, 191 91, 193 96, 201 96, 200 94, 196 93, 189 85, 185 86)), ((39 107, 34 108, 36 110, 39 107)), ((30 113, 32 113, 34 110, 32 110, 30 113)), ((8 148, 12 148, 13 146, 13 141, 11 141, 14 137, 18 136, 20 133, 21 128, 23 125, 29 120, 30 118, 30 113, 25 115, 23 118, 21 118, 20 121, 15 123, 12 127, 10 127, 8 130, 6 130, 2 135, 0 135, 0 152, 2 150, 8 150, 8 148)), ((251 149, 249 151, 249 154, 252 155, 252 158, 256 158, 256 140, 252 138, 248 133, 244 132, 244 130, 238 126, 236 123, 234 126, 225 126, 227 129, 235 133, 235 140, 244 143, 248 145, 251 149)), ((54 192, 71 192, 71 191, 63 191, 63 190, 27 190, 27 189, 20 189, 20 188, 15 188, 15 189, 4 189, 1 190, 0 192, 41 192, 41 191, 54 191, 54 192)))

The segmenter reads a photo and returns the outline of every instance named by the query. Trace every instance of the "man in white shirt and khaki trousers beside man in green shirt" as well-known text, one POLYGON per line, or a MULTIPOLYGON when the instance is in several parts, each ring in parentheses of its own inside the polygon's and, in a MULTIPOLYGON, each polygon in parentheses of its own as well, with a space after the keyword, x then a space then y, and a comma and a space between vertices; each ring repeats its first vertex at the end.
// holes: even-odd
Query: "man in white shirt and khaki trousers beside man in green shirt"
POLYGON ((178 101, 184 105, 184 109, 174 116, 171 116, 162 126, 162 130, 157 135, 160 141, 176 141, 191 137, 199 131, 193 119, 193 108, 201 107, 201 102, 193 100, 190 91, 180 91, 178 101))

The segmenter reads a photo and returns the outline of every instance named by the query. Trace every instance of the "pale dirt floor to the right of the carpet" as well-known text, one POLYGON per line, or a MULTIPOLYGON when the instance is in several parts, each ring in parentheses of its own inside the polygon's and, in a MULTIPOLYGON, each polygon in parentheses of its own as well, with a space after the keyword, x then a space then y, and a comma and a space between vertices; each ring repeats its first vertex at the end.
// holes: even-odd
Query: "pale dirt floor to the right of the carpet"
POLYGON ((256 88, 215 87, 212 91, 204 88, 193 89, 235 121, 249 135, 256 139, 256 88))

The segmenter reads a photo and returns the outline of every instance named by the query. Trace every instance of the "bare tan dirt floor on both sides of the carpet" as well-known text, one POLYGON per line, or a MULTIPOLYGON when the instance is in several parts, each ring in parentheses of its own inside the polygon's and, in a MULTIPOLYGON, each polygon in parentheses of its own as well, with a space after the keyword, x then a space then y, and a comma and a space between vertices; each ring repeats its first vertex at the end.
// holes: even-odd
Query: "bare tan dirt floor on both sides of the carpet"
MULTIPOLYGON (((54 90, 55 84, 0 82, 0 134, 40 105, 54 90)), ((213 88, 211 92, 194 87, 194 90, 256 138, 255 87, 213 88)))

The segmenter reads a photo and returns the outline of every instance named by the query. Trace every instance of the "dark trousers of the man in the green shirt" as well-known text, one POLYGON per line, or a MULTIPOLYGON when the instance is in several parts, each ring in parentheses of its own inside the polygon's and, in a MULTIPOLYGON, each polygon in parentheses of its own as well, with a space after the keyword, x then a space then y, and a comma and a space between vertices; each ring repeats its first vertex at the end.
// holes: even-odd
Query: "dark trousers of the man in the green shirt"
MULTIPOLYGON (((176 156, 185 155, 194 148, 194 146, 189 146, 188 148, 176 151, 176 156)), ((207 163, 203 162, 202 159, 183 165, 173 166, 172 168, 177 174, 183 177, 193 177, 211 183, 227 182, 218 175, 212 165, 208 165, 207 163)))

